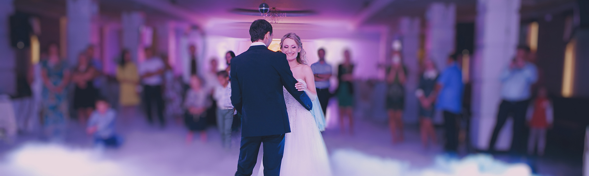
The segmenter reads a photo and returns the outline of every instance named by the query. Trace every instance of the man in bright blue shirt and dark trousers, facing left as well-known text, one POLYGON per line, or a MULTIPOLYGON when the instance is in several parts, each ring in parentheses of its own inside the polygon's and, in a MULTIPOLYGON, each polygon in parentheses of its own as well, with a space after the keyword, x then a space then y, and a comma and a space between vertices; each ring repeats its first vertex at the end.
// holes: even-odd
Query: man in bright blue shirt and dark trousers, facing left
POLYGON ((444 111, 444 128, 446 130, 445 150, 458 151, 458 116, 462 113, 462 71, 456 62, 456 55, 448 58, 448 67, 438 78, 438 84, 432 100, 436 99, 436 109, 444 111))

